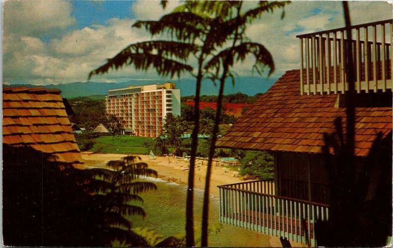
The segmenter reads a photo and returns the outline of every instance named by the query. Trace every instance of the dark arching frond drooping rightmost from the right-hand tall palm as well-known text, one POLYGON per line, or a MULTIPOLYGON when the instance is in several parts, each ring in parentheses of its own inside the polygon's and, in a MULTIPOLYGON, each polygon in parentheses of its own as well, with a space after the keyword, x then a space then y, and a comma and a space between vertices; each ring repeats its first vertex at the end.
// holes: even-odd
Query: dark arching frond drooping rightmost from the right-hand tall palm
POLYGON ((234 62, 244 61, 247 55, 253 55, 255 57, 253 67, 259 74, 261 73, 261 68, 264 66, 270 68, 269 76, 274 72, 275 65, 270 52, 263 45, 253 42, 242 43, 238 46, 221 51, 206 63, 205 69, 218 71, 224 61, 226 61, 229 66, 233 66, 234 62))

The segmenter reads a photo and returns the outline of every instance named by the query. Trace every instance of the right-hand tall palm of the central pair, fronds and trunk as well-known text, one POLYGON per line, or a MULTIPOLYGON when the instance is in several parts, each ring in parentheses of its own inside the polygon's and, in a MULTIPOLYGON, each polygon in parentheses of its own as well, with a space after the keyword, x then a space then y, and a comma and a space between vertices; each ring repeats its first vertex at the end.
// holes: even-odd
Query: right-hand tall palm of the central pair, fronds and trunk
POLYGON ((234 65, 235 61, 245 60, 247 55, 254 56, 255 63, 253 65, 253 68, 256 69, 259 74, 261 73, 261 69, 263 69, 264 66, 268 66, 270 68, 269 76, 273 73, 275 66, 273 58, 270 55, 269 51, 261 44, 253 43, 250 41, 246 42, 246 40, 249 39, 245 37, 245 31, 247 28, 247 24, 250 24, 253 19, 260 17, 263 12, 273 12, 275 8, 283 8, 284 5, 287 3, 288 2, 260 1, 256 8, 242 13, 242 1, 234 3, 229 3, 226 1, 211 1, 203 3, 191 2, 191 4, 193 5, 192 8, 198 9, 199 11, 202 11, 206 14, 220 16, 224 20, 224 26, 230 25, 233 28, 233 33, 231 34, 232 45, 228 48, 223 49, 205 65, 205 69, 211 72, 211 79, 219 80, 220 89, 217 101, 215 122, 212 131, 211 144, 209 148, 209 160, 206 170, 202 213, 202 247, 207 247, 210 176, 212 160, 215 151, 215 144, 219 132, 225 80, 227 77, 230 77, 232 78, 232 83, 234 83, 234 77, 233 74, 230 72, 230 67, 234 65), (223 9, 225 9, 226 11, 222 11, 223 9), (221 76, 219 76, 220 74, 221 76))

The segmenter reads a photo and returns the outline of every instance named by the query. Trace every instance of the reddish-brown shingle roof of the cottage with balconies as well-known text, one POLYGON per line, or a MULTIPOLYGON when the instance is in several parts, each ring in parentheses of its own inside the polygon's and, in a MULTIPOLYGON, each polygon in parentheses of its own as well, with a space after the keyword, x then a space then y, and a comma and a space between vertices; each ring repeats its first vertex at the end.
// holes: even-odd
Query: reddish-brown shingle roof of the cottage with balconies
MULTIPOLYGON (((287 71, 220 138, 218 147, 321 153, 323 134, 335 132, 337 95, 300 95, 299 70, 287 71)), ((392 107, 356 108, 355 155, 366 156, 378 132, 392 132, 392 107)))

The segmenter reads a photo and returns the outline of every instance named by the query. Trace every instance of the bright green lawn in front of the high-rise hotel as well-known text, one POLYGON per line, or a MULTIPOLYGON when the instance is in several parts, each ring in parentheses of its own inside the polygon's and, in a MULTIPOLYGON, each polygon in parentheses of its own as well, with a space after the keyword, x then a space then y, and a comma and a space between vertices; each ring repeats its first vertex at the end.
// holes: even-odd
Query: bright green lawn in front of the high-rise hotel
POLYGON ((134 136, 102 136, 95 139, 96 143, 92 152, 119 153, 119 154, 149 154, 150 150, 143 147, 143 143, 151 141, 152 138, 134 136))

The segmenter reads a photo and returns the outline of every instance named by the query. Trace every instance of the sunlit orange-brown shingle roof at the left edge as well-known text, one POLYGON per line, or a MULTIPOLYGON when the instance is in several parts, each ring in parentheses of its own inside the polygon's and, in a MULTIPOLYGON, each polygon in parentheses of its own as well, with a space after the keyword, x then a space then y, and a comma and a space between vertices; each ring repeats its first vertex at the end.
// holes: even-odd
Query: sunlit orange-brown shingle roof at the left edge
POLYGON ((3 144, 28 146, 84 168, 58 89, 3 88, 3 144))

